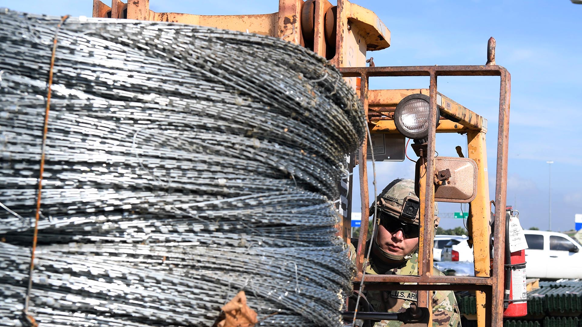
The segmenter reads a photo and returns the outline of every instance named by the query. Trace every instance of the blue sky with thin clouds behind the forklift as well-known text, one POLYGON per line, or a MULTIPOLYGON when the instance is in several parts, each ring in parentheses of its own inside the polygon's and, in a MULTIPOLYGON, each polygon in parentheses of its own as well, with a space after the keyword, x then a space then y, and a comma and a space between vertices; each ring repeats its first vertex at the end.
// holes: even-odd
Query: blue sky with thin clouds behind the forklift
MULTIPOLYGON (((552 160, 552 229, 573 229, 574 214, 582 214, 582 5, 569 0, 353 2, 373 10, 391 30, 391 47, 368 54, 377 66, 482 65, 488 38, 496 38, 496 62, 512 74, 508 204, 516 204, 524 228, 547 229, 546 161, 552 160)), ((92 5, 91 0, 0 1, 2 7, 58 16, 91 16, 92 5)), ((240 15, 276 12, 278 1, 151 0, 150 9, 240 15)), ((428 87, 428 78, 378 79, 371 87, 428 87)), ((438 89, 489 120, 493 196, 499 78, 441 77, 438 89)), ((456 134, 437 137, 440 155, 456 156, 455 145, 464 144, 466 138, 456 134)), ((377 164, 378 189, 396 177, 413 176, 411 162, 377 164)), ((441 212, 459 209, 458 204, 441 205, 441 212)), ((445 219, 443 225, 462 223, 445 219)))

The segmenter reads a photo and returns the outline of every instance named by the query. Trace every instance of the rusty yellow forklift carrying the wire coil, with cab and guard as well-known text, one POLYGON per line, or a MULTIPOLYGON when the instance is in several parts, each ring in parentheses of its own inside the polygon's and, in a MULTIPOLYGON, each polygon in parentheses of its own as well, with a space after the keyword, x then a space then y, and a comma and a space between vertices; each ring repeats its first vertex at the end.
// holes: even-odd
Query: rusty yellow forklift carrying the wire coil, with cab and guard
MULTIPOLYGON (((495 219, 490 226, 491 203, 495 216, 506 216, 506 178, 509 135, 510 74, 495 63, 495 40, 488 42, 487 63, 474 66, 402 66, 376 67, 367 59, 368 51, 390 46, 390 31, 371 10, 347 0, 332 5, 327 0, 279 0, 279 10, 264 15, 208 16, 184 13, 158 13, 149 9, 149 0, 112 0, 111 6, 94 0, 94 17, 154 20, 197 24, 221 29, 246 31, 299 44, 313 50, 339 67, 346 83, 359 92, 370 126, 370 138, 378 146, 390 150, 393 160, 404 154, 406 138, 415 140, 419 159, 416 184, 420 186, 420 237, 417 276, 365 275, 368 209, 368 171, 365 162, 372 157, 368 142, 364 142, 358 158, 361 225, 357 246, 356 283, 364 280, 366 289, 418 291, 417 306, 428 312, 425 325, 430 325, 431 301, 434 290, 470 290, 477 295, 477 325, 501 326, 504 300, 504 251, 490 251, 493 239, 495 249, 505 249, 506 225, 504 219, 495 219), (366 63, 370 63, 366 67, 366 63), (370 77, 428 76, 428 88, 401 90, 369 90, 370 77), (498 147, 495 169, 495 198, 489 198, 487 151, 485 135, 487 119, 439 93, 440 76, 500 76, 498 147), (422 103, 420 111, 412 111, 411 100, 422 103), (412 121, 413 123, 410 123, 412 121), (460 133, 467 136, 467 158, 435 158, 436 133, 460 133), (469 203, 469 235, 473 244, 475 276, 440 276, 433 273, 432 244, 434 201, 469 203), (491 234, 491 230, 494 233, 491 234), (370 283, 370 284, 368 284, 370 283), (401 285, 400 283, 406 283, 401 285)), ((376 152, 376 151, 374 151, 376 152)), ((462 154, 458 151, 460 156, 462 154)), ((385 153, 387 153, 385 151, 385 153)), ((352 158, 354 159, 354 158, 352 158)), ((386 159, 380 155, 375 159, 386 159)), ((404 158, 402 158, 403 160, 404 158)), ((351 162, 355 163, 355 160, 351 162)), ((375 196, 375 195, 374 195, 375 196)), ((349 201, 350 199, 348 199, 349 201)), ((349 205, 348 205, 349 207, 349 205)), ((338 234, 349 243, 350 210, 342 216, 338 234)), ((511 266, 511 264, 509 264, 511 266)), ((507 269, 505 269, 507 270, 507 269)))

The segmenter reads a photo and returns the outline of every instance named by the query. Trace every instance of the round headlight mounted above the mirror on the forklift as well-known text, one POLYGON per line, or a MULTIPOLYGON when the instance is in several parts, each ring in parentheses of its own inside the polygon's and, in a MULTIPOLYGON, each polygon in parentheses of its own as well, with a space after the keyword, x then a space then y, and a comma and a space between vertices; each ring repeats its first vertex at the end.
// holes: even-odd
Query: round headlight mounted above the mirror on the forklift
POLYGON ((394 123, 400 134, 414 140, 428 137, 429 100, 428 95, 411 94, 396 105, 394 123))

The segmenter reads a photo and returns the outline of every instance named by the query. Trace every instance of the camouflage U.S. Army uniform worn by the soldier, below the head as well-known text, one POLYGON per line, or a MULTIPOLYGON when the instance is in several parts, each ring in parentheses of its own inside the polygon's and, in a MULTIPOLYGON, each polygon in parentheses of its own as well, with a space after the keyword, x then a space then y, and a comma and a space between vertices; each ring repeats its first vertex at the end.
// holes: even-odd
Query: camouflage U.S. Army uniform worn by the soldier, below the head
MULTIPOLYGON (((356 250, 353 244, 350 244, 350 258, 356 260, 356 250)), ((434 269, 435 272, 444 275, 442 272, 434 269)), ((366 273, 371 275, 417 275, 418 272, 418 253, 414 253, 410 260, 402 266, 389 271, 382 272, 370 258, 370 265, 366 268, 366 273)), ((452 291, 433 291, 432 292, 432 326, 451 326, 460 327, 459 307, 457 299, 452 291)), ((411 302, 416 302, 417 293, 414 291, 377 291, 370 290, 365 292, 368 302, 374 307, 375 311, 382 312, 404 312, 410 307, 411 302)), ((380 321, 374 324, 374 327, 398 327, 404 324, 400 321, 380 321)))

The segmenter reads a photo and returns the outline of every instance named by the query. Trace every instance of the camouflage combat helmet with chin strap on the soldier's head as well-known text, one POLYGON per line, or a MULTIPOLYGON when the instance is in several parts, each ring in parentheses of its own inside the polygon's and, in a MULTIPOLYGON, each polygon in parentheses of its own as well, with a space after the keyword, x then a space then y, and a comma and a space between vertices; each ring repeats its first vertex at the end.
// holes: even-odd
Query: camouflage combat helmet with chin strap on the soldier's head
MULTIPOLYGON (((396 219, 408 225, 420 225, 420 200, 414 193, 414 180, 411 179, 395 179, 389 183, 384 190, 376 198, 378 205, 378 212, 375 218, 375 223, 380 225, 382 219, 396 219)), ((374 215, 374 204, 370 207, 370 216, 374 215)), ((435 203, 435 225, 438 226, 438 207, 435 203)), ((378 230, 378 228, 376 228, 378 230)), ((434 232, 434 230, 433 230, 434 232)), ((372 236, 374 247, 379 250, 384 257, 393 261, 407 261, 418 250, 417 246, 405 255, 394 255, 382 250, 378 242, 378 233, 372 236)))

